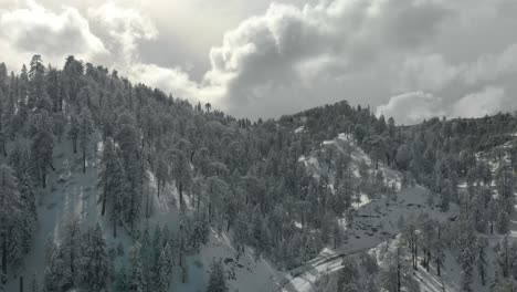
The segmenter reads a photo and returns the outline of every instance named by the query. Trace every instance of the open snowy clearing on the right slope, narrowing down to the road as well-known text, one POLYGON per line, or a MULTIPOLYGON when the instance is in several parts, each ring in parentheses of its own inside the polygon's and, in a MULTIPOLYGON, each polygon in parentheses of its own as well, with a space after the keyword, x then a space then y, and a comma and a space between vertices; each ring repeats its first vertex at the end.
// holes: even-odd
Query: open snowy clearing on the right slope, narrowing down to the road
POLYGON ((439 208, 428 207, 429 195, 428 189, 416 186, 397 194, 397 201, 381 199, 361 206, 357 210, 352 228, 347 230, 348 240, 337 250, 326 249, 312 262, 292 270, 283 282, 283 291, 312 291, 320 277, 341 268, 344 257, 368 251, 393 239, 400 233, 398 221, 401 217, 405 220, 416 219, 425 213, 436 220, 446 220, 457 211, 456 206, 452 206, 447 213, 439 208))

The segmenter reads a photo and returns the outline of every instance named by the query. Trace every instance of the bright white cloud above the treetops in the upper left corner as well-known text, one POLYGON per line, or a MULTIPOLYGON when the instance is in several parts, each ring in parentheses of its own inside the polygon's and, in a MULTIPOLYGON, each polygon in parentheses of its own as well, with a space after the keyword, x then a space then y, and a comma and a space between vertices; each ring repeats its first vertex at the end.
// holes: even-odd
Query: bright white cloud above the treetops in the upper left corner
POLYGON ((108 54, 76 9, 63 7, 52 12, 32 1, 22 8, 0 11, 0 51, 20 66, 34 53, 55 63, 62 63, 63 56, 70 54, 86 60, 108 54))

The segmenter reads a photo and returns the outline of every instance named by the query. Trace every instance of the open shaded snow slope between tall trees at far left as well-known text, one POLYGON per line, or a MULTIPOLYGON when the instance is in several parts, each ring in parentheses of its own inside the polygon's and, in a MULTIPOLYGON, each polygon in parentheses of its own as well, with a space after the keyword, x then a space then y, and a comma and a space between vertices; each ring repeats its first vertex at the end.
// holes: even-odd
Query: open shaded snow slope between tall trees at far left
MULTIPOLYGON (((66 225, 76 218, 83 226, 94 226, 99 221, 97 204, 97 157, 95 148, 99 137, 93 135, 87 155, 87 171, 83 174, 80 153, 73 154, 70 142, 55 142, 54 167, 49 174, 46 189, 36 194, 38 230, 34 243, 24 259, 22 272, 25 282, 32 281, 35 273, 42 280, 45 269, 48 241, 60 242, 66 225)), ((18 291, 18 281, 9 279, 6 291, 18 291)))

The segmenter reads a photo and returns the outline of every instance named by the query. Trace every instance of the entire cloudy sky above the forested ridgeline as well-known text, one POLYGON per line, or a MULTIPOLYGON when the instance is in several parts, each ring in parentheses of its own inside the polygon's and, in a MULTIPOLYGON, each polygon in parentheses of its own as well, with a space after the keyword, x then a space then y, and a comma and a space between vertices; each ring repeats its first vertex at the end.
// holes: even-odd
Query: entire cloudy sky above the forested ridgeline
POLYGON ((515 0, 0 0, 0 62, 67 55, 236 117, 517 109, 515 0))

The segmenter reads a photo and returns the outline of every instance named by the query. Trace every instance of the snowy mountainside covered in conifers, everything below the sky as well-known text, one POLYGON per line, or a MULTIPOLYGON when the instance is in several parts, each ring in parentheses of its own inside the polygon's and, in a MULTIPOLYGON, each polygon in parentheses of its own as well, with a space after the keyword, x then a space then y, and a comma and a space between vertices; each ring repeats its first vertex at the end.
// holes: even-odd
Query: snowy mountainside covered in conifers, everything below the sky
MULTIPOLYGON (((506 291, 517 117, 234 118, 70 56, 0 65, 4 291, 506 291)), ((517 244, 517 243, 515 243, 517 244)))

